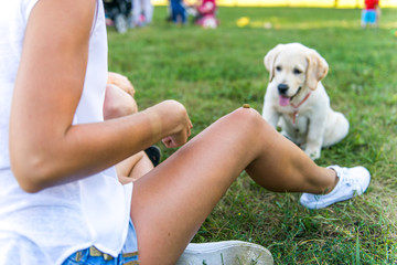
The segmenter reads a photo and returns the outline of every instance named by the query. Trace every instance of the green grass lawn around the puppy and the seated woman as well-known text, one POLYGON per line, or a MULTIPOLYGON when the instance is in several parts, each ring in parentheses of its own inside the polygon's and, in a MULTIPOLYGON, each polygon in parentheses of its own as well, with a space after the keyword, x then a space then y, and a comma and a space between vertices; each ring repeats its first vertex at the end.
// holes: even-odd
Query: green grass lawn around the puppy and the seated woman
MULTIPOLYGON (((397 10, 383 10, 378 30, 362 30, 360 15, 354 9, 221 8, 221 26, 203 30, 167 24, 165 8, 157 7, 151 26, 124 35, 109 29, 109 68, 132 81, 141 108, 168 98, 183 103, 193 135, 243 103, 261 110, 262 59, 278 43, 301 42, 330 65, 323 84, 351 130, 318 163, 367 167, 367 193, 310 211, 299 194, 268 192, 243 173, 195 242, 255 242, 276 264, 397 263, 397 10), (237 28, 242 17, 251 23, 237 28)), ((174 151, 161 148, 165 157, 174 151)))

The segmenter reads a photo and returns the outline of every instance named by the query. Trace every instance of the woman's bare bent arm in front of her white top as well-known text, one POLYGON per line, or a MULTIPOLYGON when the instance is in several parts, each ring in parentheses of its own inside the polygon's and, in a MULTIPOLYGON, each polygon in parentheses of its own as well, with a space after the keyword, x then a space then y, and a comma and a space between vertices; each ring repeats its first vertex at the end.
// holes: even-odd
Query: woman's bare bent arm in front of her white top
POLYGON ((191 129, 185 108, 168 100, 139 114, 73 126, 82 95, 95 0, 41 0, 31 12, 10 117, 11 167, 36 192, 104 170, 191 129))

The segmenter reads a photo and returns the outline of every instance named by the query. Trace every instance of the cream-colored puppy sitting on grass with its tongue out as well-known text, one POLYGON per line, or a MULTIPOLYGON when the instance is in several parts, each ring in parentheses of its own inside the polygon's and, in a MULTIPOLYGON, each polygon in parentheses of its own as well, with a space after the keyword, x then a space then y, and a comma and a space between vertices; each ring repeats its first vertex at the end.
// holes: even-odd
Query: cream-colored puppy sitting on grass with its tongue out
POLYGON ((262 117, 281 134, 318 159, 321 148, 348 132, 343 114, 332 110, 321 84, 329 65, 314 50, 300 43, 279 44, 265 56, 270 73, 262 117), (310 94, 310 95, 309 95, 310 94))

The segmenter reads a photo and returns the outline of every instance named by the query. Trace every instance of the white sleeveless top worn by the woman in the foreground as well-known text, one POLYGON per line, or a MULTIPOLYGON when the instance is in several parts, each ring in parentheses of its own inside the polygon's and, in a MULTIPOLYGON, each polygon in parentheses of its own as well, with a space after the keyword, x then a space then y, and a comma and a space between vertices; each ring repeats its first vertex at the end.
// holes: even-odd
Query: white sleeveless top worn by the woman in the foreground
MULTIPOLYGON (((36 245, 49 264, 61 264, 72 253, 92 245, 116 256, 128 231, 132 184, 121 186, 114 168, 33 194, 20 189, 10 169, 8 129, 12 91, 24 30, 36 1, 0 0, 0 242, 10 237, 18 239, 21 245, 23 241, 36 245)), ((106 80, 105 13, 101 0, 97 0, 86 80, 74 124, 103 120, 106 80)), ((2 262, 0 257, 0 264, 7 264, 2 262)))

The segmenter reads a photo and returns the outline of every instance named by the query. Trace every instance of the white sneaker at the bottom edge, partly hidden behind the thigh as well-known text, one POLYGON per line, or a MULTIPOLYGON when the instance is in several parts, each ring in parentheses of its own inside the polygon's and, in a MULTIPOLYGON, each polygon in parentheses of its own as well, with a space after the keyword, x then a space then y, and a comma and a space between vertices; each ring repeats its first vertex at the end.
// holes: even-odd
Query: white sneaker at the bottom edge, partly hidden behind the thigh
POLYGON ((264 246, 243 241, 191 243, 176 265, 272 265, 273 258, 264 246))

